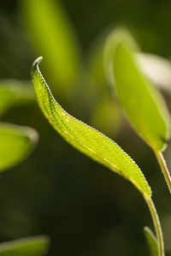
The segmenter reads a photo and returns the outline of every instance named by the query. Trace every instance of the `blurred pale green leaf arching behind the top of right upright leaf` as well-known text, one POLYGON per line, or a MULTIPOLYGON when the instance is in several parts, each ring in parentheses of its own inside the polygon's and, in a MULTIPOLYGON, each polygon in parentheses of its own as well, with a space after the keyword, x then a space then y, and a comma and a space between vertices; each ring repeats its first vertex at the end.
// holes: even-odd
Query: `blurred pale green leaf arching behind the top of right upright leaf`
POLYGON ((133 36, 126 27, 116 27, 109 33, 103 50, 103 68, 106 75, 106 80, 109 86, 114 85, 114 74, 113 74, 113 57, 115 47, 119 43, 124 43, 127 47, 133 51, 139 51, 139 45, 133 39, 133 36))

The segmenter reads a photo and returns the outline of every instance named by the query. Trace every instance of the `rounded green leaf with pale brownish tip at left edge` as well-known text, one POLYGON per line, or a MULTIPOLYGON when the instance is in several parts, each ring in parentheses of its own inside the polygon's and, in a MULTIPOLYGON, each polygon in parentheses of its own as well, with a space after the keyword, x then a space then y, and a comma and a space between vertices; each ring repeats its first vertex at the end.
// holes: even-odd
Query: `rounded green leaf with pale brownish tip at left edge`
POLYGON ((38 134, 34 129, 0 122, 0 171, 20 163, 37 141, 38 134))

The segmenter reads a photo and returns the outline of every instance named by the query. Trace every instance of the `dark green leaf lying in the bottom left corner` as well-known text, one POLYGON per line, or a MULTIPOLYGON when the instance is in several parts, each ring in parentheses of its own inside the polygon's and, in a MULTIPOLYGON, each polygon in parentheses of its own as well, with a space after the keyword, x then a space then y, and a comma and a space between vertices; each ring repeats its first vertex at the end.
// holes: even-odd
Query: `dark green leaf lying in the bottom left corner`
POLYGON ((45 235, 3 242, 0 244, 0 256, 43 256, 47 253, 49 242, 45 235))

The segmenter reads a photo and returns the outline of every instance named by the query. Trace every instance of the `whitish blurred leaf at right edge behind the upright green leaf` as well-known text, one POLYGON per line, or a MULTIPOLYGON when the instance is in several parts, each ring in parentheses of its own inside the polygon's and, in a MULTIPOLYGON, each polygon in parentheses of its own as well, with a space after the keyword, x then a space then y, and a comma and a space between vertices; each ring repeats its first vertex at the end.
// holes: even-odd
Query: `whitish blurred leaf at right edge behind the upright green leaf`
POLYGON ((142 72, 161 89, 171 93, 171 63, 149 53, 137 53, 135 57, 142 72))

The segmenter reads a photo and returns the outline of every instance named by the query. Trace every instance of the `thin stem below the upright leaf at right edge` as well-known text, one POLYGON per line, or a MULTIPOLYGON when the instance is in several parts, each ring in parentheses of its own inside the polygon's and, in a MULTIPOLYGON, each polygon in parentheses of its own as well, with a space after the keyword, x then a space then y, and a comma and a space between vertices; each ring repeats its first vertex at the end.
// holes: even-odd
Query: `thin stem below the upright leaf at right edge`
POLYGON ((162 169, 163 176, 168 184, 169 192, 171 193, 171 176, 169 174, 167 164, 162 156, 162 152, 155 151, 155 155, 156 155, 158 163, 160 164, 160 167, 162 169))

